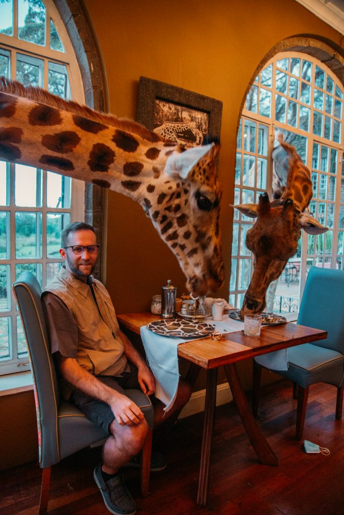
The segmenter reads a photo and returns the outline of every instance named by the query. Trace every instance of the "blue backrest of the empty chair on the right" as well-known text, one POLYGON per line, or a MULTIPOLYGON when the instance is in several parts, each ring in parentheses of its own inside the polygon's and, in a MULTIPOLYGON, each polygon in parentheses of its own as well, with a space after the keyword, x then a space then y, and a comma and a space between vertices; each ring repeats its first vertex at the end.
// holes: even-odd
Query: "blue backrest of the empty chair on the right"
POLYGON ((310 268, 298 324, 327 331, 314 345, 344 354, 344 270, 310 268))

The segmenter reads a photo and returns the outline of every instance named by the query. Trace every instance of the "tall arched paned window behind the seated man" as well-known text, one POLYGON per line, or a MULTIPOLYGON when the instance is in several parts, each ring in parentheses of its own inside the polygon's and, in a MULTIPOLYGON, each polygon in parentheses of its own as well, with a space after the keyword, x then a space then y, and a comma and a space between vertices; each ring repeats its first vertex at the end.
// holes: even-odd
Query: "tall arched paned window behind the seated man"
MULTIPOLYGON (((84 102, 76 56, 52 0, 1 0, 0 75, 84 102)), ((85 184, 0 161, 0 373, 28 368, 11 284, 23 270, 44 287, 62 260, 60 231, 84 219, 85 184)))

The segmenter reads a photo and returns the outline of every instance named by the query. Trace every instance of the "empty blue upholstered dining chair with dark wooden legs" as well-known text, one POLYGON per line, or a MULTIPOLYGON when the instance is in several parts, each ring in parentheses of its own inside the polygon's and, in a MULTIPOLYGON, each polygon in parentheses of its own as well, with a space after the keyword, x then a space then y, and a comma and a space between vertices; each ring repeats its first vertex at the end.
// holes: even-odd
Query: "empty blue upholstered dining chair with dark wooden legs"
MULTIPOLYGON (((344 270, 312 267, 300 304, 298 324, 327 331, 325 340, 288 349, 288 370, 272 370, 293 382, 297 398, 296 439, 301 440, 309 386, 337 387, 336 419, 341 419, 344 390, 344 270)), ((252 411, 258 414, 261 365, 253 361, 252 411)))

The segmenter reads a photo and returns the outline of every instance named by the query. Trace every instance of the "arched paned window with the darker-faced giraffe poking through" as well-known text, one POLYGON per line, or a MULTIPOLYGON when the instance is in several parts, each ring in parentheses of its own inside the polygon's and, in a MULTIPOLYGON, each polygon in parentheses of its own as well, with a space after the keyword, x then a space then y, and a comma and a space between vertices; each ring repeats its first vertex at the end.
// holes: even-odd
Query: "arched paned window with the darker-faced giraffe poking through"
MULTIPOLYGON (((317 236, 302 232, 298 251, 289 259, 268 311, 298 311, 311 266, 344 268, 343 125, 342 84, 326 65, 306 54, 274 56, 247 95, 237 138, 234 203, 257 202, 263 191, 271 194, 270 156, 275 135, 282 132, 311 171, 309 209, 329 228, 317 236)), ((234 210, 230 301, 236 307, 241 306, 253 273, 253 257, 245 246, 253 223, 234 210)))

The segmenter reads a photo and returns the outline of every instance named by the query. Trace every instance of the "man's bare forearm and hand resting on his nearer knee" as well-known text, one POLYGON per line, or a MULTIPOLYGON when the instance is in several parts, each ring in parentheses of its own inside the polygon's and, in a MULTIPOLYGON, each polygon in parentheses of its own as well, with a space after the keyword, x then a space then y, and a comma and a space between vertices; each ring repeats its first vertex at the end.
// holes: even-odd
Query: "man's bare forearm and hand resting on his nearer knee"
POLYGON ((120 425, 138 424, 144 415, 140 408, 122 393, 103 384, 77 363, 76 359, 56 353, 59 370, 69 383, 99 401, 106 402, 120 425))

